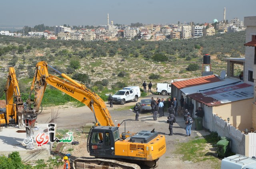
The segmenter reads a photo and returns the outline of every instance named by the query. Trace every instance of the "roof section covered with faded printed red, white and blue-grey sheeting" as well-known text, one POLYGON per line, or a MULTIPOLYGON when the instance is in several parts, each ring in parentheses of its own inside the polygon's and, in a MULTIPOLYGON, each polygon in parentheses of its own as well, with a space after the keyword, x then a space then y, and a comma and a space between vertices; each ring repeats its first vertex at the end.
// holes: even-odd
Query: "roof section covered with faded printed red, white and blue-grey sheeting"
POLYGON ((254 86, 240 82, 190 94, 191 98, 208 106, 219 105, 254 97, 254 86))

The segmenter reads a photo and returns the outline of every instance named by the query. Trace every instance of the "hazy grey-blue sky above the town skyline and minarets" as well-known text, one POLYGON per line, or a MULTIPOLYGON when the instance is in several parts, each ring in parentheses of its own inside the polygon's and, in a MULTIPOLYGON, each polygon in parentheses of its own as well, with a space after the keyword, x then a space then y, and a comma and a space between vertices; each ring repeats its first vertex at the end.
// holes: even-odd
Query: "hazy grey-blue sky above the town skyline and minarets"
POLYGON ((205 23, 256 16, 256 0, 3 0, 0 26, 205 23), (4 1, 4 2, 3 2, 4 1))

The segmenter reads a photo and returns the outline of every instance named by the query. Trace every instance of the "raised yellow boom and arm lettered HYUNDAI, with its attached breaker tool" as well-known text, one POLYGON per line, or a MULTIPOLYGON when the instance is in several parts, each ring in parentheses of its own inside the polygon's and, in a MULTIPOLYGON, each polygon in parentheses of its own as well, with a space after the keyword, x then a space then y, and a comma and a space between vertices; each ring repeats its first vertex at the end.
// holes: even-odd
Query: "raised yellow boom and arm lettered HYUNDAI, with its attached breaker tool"
MULTIPOLYGON (((58 90, 61 90, 62 92, 70 95, 71 97, 88 106, 94 113, 96 125, 114 126, 110 113, 106 108, 105 102, 100 98, 100 96, 89 90, 83 84, 77 83, 64 73, 60 73, 48 65, 45 61, 41 61, 36 65, 35 76, 30 87, 29 98, 26 102, 28 107, 24 108, 26 135, 28 139, 34 140, 33 128, 47 84, 57 88, 58 90), (60 79, 54 75, 50 75, 48 71, 49 67, 66 80, 60 79), (31 99, 33 91, 35 92, 34 100, 31 99)), ((34 147, 33 145, 27 145, 27 148, 33 149, 34 147)))

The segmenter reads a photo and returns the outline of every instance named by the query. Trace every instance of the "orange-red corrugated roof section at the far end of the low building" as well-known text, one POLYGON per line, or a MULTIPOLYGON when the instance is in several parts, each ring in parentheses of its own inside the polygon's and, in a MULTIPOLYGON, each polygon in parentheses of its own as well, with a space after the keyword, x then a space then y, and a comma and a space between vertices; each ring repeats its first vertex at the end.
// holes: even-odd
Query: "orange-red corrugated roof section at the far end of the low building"
POLYGON ((220 79, 216 75, 209 75, 209 76, 203 76, 203 77, 198 77, 194 79, 174 82, 172 83, 172 85, 176 86, 178 89, 182 89, 185 87, 204 85, 204 84, 214 83, 218 81, 220 81, 220 79))

